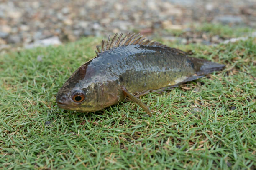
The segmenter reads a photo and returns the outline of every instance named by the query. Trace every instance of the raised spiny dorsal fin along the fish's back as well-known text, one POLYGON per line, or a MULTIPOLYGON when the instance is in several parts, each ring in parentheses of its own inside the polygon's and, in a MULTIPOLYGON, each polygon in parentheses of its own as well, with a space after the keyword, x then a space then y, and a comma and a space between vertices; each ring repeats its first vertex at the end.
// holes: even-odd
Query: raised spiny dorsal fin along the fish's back
POLYGON ((97 50, 95 51, 96 55, 99 56, 100 53, 104 51, 108 51, 115 47, 128 46, 128 45, 143 45, 143 46, 159 46, 159 47, 167 47, 166 45, 161 44, 160 42, 149 40, 147 37, 144 37, 141 34, 131 34, 128 33, 124 37, 123 33, 115 34, 112 40, 110 41, 110 35, 108 36, 107 42, 102 40, 101 49, 96 46, 97 50))

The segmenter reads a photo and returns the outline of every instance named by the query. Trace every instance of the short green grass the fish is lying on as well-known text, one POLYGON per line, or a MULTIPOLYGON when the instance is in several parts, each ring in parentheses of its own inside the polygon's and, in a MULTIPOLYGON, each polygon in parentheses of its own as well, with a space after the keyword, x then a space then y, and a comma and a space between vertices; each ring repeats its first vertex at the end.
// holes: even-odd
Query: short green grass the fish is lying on
POLYGON ((0 56, 0 169, 256 168, 255 40, 169 44, 227 67, 142 96, 153 117, 133 102, 89 114, 56 106, 58 89, 96 44, 89 37, 0 56))

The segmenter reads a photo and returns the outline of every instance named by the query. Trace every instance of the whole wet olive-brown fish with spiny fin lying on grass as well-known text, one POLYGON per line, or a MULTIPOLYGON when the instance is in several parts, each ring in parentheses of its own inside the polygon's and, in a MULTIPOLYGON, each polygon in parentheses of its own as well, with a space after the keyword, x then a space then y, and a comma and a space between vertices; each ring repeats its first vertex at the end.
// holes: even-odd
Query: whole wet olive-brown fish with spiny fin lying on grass
POLYGON ((65 110, 95 112, 124 101, 151 111, 138 96, 196 80, 225 65, 189 57, 186 52, 140 34, 115 34, 96 46, 96 56, 81 65, 59 89, 56 103, 65 110))

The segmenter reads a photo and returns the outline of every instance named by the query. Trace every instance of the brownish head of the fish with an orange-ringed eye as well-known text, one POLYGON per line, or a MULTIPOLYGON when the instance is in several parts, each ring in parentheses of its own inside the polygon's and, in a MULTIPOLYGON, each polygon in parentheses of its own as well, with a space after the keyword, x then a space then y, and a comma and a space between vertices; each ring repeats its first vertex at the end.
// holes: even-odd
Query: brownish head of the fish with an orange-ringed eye
POLYGON ((65 110, 95 112, 115 104, 118 94, 113 83, 103 81, 97 70, 87 64, 79 67, 58 91, 57 105, 65 110))

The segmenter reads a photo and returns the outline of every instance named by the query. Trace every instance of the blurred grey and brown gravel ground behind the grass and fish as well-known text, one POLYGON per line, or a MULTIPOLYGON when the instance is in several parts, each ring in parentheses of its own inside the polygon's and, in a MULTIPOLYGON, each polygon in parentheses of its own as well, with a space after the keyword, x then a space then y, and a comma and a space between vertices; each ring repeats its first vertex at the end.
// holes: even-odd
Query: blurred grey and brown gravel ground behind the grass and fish
POLYGON ((205 23, 256 28, 256 0, 0 0, 0 50, 120 32, 172 41, 178 30, 184 44, 225 40, 194 31, 205 23))

